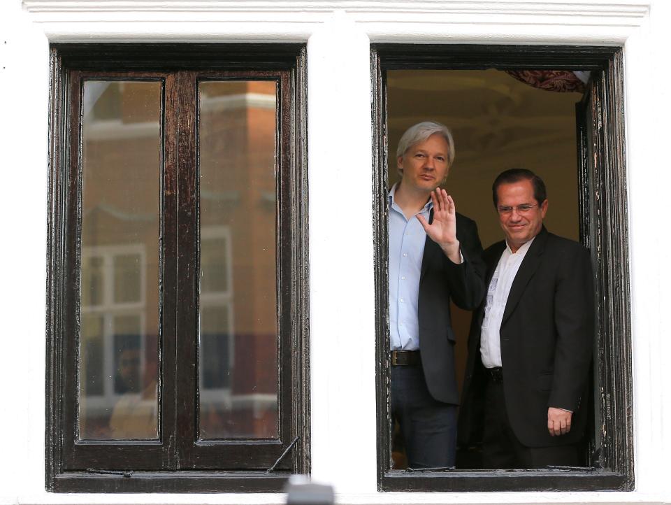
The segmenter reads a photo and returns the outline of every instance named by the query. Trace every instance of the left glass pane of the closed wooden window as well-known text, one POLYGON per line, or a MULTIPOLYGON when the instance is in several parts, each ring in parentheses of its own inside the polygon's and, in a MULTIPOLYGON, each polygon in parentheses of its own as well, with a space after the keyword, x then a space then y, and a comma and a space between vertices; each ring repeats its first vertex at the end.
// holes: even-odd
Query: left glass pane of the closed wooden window
POLYGON ((161 94, 84 84, 80 439, 158 437, 161 94))

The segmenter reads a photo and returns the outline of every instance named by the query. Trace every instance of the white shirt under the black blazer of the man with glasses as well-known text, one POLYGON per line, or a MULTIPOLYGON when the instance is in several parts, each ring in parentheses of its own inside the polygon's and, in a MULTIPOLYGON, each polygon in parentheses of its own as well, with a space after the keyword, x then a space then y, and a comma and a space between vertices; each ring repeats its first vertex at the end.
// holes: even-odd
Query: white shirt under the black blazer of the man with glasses
MULTIPOLYGON (((534 237, 535 238, 535 237, 534 237)), ((480 332, 480 355, 485 368, 501 367, 501 339, 499 330, 503 321, 505 304, 508 301, 510 287, 517 276, 519 266, 531 247, 533 239, 525 243, 517 252, 512 252, 505 244, 505 251, 498 260, 496 270, 487 287, 487 299, 484 306, 484 320, 480 332)))

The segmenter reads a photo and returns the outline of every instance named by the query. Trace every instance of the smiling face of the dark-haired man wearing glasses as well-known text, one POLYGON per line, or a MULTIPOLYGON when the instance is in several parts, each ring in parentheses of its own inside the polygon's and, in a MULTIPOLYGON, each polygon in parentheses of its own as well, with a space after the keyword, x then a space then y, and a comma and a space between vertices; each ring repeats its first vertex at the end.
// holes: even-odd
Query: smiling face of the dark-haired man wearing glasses
POLYGON ((538 205, 533 197, 531 180, 502 184, 496 192, 498 219, 505 233, 505 240, 512 251, 516 252, 540 232, 547 212, 547 200, 538 205), (519 206, 533 207, 520 212, 519 206))

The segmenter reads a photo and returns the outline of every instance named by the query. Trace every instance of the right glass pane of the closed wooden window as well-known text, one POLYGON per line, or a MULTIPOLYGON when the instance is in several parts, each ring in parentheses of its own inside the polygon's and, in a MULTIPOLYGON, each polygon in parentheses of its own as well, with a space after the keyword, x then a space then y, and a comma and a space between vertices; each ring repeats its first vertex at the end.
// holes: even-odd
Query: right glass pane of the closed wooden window
POLYGON ((275 83, 199 85, 199 436, 279 436, 275 83))

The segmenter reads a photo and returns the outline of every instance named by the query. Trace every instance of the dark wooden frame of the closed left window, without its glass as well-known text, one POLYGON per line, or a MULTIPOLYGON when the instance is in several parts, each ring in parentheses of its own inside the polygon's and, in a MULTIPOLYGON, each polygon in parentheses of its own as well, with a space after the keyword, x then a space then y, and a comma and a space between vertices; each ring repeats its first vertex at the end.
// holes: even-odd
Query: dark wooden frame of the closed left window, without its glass
POLYGON ((56 44, 50 66, 47 490, 280 491, 290 474, 310 471, 305 45, 56 44), (79 102, 87 78, 164 85, 157 441, 77 441, 79 102), (199 80, 277 82, 279 439, 201 441, 196 433, 199 80))

